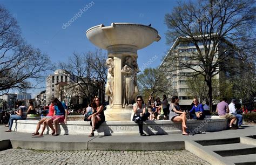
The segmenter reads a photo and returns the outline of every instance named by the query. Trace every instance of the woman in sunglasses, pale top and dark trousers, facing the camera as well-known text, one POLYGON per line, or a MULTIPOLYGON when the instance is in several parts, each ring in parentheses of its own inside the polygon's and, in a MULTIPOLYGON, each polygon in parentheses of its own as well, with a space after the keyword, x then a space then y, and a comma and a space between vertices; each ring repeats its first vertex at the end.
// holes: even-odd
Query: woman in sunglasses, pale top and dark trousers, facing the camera
POLYGON ((133 104, 133 112, 134 116, 132 120, 138 123, 140 136, 146 136, 146 134, 144 134, 143 132, 143 121, 146 121, 147 118, 149 118, 150 113, 146 113, 146 106, 144 104, 142 96, 140 95, 137 97, 137 103, 133 104))

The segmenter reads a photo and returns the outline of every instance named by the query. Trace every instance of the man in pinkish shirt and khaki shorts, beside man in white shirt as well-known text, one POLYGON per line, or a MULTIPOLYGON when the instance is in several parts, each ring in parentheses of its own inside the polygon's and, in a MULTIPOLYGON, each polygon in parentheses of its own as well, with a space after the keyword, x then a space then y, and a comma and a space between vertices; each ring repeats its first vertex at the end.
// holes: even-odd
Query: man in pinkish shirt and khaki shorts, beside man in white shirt
POLYGON ((219 102, 216 108, 216 112, 218 112, 220 118, 226 118, 230 120, 230 129, 237 129, 237 127, 233 127, 232 124, 237 120, 234 115, 230 114, 230 110, 228 109, 227 99, 223 98, 223 101, 219 102))

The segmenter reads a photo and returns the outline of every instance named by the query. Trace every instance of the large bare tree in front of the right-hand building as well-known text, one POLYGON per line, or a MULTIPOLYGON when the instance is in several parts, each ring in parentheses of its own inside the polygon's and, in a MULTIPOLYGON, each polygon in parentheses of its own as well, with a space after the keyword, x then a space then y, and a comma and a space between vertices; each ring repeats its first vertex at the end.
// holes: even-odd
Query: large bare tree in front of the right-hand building
POLYGON ((195 47, 188 60, 179 60, 182 52, 177 53, 178 57, 165 58, 165 62, 168 61, 173 67, 163 66, 164 71, 190 69, 194 75, 203 75, 210 108, 212 78, 222 71, 237 71, 232 59, 245 63, 255 60, 255 54, 251 51, 255 47, 253 0, 186 1, 165 15, 165 23, 169 29, 166 33, 168 44, 179 37, 195 47), (200 44, 204 49, 200 49, 200 44))

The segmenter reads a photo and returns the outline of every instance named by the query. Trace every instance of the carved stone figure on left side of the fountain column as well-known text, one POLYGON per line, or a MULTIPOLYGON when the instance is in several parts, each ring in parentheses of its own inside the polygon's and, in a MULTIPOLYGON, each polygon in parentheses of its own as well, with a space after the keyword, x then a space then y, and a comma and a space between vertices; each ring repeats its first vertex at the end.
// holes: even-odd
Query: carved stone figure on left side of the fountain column
POLYGON ((109 105, 113 106, 113 88, 114 88, 114 61, 112 58, 106 60, 106 66, 108 67, 106 95, 110 97, 109 105))

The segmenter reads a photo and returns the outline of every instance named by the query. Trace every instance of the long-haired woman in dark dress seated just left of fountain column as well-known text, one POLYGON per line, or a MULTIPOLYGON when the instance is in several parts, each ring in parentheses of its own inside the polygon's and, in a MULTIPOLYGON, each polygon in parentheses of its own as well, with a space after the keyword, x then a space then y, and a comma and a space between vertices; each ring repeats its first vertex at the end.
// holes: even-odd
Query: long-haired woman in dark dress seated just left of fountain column
POLYGON ((105 115, 103 111, 103 105, 100 103, 99 98, 95 97, 92 100, 92 114, 88 117, 91 120, 90 125, 92 126, 89 137, 94 136, 94 132, 99 128, 100 125, 105 121, 105 115))

